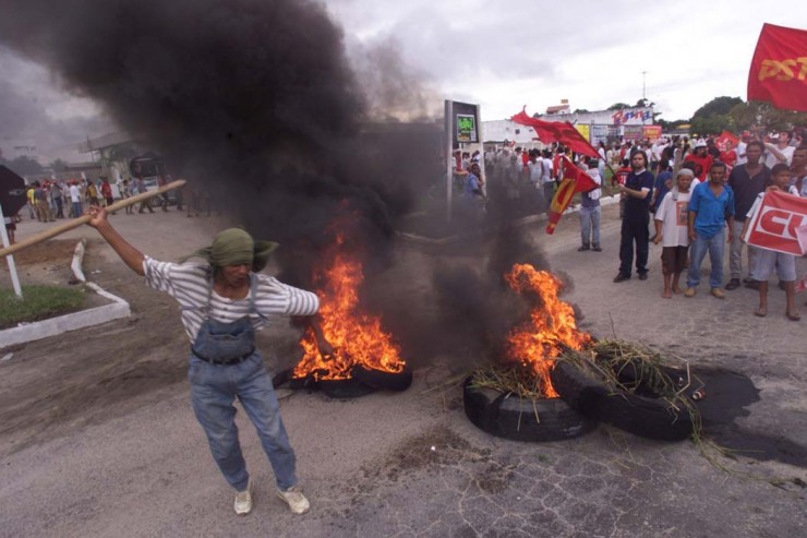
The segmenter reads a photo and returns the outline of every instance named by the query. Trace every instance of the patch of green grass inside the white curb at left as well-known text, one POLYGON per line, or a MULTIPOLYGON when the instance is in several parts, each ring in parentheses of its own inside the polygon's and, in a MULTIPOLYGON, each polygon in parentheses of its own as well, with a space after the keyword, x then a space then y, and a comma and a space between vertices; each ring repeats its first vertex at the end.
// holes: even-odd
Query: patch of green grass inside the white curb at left
POLYGON ((83 288, 23 286, 21 300, 13 289, 0 289, 0 330, 19 323, 46 320, 81 310, 86 302, 83 288))

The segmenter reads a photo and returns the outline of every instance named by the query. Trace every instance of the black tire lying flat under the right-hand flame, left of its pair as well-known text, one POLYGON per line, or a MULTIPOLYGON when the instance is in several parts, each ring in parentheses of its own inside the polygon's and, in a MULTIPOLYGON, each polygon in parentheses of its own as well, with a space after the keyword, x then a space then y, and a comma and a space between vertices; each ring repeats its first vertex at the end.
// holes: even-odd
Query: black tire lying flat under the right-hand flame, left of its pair
POLYGON ((591 431, 597 421, 571 409, 561 398, 527 399, 486 387, 463 385, 466 416, 481 430, 514 441, 561 441, 591 431), (540 422, 539 422, 540 421, 540 422))

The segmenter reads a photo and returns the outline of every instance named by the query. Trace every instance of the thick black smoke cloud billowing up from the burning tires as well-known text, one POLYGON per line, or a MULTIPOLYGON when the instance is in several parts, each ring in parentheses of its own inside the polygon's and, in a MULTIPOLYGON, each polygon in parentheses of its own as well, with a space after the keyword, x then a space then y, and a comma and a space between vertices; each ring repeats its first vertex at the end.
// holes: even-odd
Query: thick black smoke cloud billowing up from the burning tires
POLYGON ((360 134, 370 117, 429 115, 427 85, 394 41, 361 51, 357 74, 341 29, 311 0, 0 0, 0 43, 98 103, 256 237, 279 241, 289 284, 309 284, 329 224, 353 215, 368 306, 410 354, 490 350, 522 313, 501 283, 503 267, 534 252, 515 231, 491 253, 461 230, 475 238, 473 263, 434 270, 434 315, 413 315, 422 299, 382 277, 395 219, 443 174, 438 124, 360 134))

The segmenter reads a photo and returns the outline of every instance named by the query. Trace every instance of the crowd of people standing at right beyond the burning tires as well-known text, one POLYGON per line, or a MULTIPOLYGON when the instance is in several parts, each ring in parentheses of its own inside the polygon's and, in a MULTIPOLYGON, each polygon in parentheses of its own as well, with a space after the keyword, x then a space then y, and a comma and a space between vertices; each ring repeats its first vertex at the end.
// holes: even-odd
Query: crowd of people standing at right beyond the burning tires
POLYGON ((601 252, 600 196, 609 168, 611 187, 619 192, 622 219, 615 283, 630 279, 634 267, 640 280, 648 278, 652 241, 662 246, 663 298, 675 294, 694 297, 708 254, 713 297, 724 299, 725 290, 743 285, 757 289, 759 306, 754 313, 764 316, 768 279, 775 271, 779 286, 786 294, 785 315, 793 321, 800 319, 795 304, 795 256, 746 246, 743 240, 744 227, 766 192, 778 190, 807 198, 807 144, 799 134, 779 131, 760 136, 743 131, 736 145, 715 136, 601 142, 597 151, 600 158, 575 155, 557 143, 529 151, 505 144, 484 155, 457 152, 454 167, 460 206, 477 217, 495 205, 495 199, 506 203, 510 213, 547 211, 563 179, 559 163, 565 156, 599 186, 582 193, 579 201, 578 250, 601 252), (481 174, 482 159, 490 181, 481 174), (726 244, 728 279, 724 283, 726 244), (679 279, 685 271, 686 287, 682 288, 679 279))

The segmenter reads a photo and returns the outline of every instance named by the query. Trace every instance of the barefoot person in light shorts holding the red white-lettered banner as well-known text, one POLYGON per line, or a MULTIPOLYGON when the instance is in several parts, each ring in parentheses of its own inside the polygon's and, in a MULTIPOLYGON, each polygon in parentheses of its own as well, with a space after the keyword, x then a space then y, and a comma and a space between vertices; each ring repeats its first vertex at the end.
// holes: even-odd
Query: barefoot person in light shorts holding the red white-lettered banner
MULTIPOLYGON (((771 179, 773 186, 769 187, 768 190, 776 190, 785 192, 787 194, 798 195, 798 191, 790 186, 791 182, 791 170, 786 164, 780 163, 771 168, 771 179)), ((748 216, 745 219, 745 226, 740 234, 743 240, 745 240, 746 231, 748 231, 748 225, 754 220, 755 214, 759 211, 762 205, 762 199, 764 192, 757 196, 754 205, 748 211, 748 216)), ((768 249, 758 249, 757 258, 754 261, 754 267, 751 267, 751 277, 759 283, 759 307, 754 311, 755 315, 764 318, 768 315, 768 278, 773 273, 773 268, 776 268, 779 279, 784 283, 785 292, 785 315, 791 321, 798 321, 802 319, 798 311, 796 310, 796 256, 793 254, 785 254, 784 252, 775 252, 768 249)))

